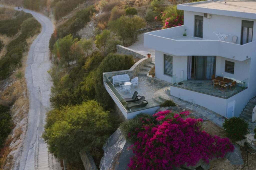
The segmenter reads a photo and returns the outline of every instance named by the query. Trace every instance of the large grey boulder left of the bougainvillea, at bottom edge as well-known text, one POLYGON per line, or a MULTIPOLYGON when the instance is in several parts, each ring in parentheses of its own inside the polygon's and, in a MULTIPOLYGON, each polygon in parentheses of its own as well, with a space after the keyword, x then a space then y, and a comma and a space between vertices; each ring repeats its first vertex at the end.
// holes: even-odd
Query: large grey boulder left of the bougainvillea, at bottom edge
POLYGON ((127 169, 130 158, 134 155, 132 150, 127 150, 131 145, 118 128, 103 146, 104 156, 100 161, 100 170, 127 169))

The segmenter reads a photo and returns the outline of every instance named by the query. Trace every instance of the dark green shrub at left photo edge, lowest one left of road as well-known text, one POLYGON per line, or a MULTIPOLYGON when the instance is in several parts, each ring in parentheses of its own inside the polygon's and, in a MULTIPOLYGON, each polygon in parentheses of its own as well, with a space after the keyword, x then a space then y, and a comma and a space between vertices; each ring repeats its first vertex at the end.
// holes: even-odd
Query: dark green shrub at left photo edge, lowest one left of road
POLYGON ((5 139, 12 130, 11 119, 9 108, 0 104, 0 148, 3 147, 5 139))

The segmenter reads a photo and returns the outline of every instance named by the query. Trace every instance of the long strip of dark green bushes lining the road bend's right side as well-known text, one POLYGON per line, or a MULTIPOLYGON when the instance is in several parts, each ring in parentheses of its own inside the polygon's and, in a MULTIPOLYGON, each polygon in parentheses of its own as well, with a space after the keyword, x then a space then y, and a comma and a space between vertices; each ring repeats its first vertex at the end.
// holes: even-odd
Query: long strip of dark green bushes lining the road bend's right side
POLYGON ((55 42, 59 38, 63 38, 69 34, 73 35, 73 37, 77 37, 76 33, 80 29, 84 27, 84 25, 90 21, 90 16, 95 12, 94 6, 90 6, 88 8, 82 9, 76 14, 68 19, 64 24, 60 25, 55 33, 51 35, 51 39, 49 42, 50 50, 53 49, 55 42))

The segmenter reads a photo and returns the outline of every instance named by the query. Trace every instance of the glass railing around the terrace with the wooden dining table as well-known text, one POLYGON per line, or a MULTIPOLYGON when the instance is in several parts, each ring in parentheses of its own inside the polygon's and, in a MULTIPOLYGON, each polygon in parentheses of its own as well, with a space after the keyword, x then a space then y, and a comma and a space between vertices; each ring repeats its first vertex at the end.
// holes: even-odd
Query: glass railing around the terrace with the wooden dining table
POLYGON ((218 85, 214 87, 214 84, 211 80, 185 80, 176 77, 176 75, 173 75, 172 86, 181 87, 212 96, 229 98, 232 95, 235 95, 246 89, 248 87, 248 80, 249 79, 245 79, 243 81, 236 80, 235 86, 230 87, 227 85, 227 88, 220 88, 218 85))

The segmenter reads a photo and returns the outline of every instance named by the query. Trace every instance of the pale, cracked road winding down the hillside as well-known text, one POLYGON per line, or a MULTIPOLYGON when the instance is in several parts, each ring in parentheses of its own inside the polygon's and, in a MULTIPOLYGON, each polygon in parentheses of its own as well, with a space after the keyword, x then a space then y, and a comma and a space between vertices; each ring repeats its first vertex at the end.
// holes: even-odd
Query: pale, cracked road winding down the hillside
POLYGON ((42 31, 30 46, 27 58, 25 78, 29 91, 28 129, 22 156, 17 161, 15 169, 62 169, 54 156, 48 152, 47 145, 41 138, 44 132, 46 111, 50 107, 52 82, 47 73, 51 66, 48 46, 54 25, 49 18, 42 14, 27 9, 23 10, 31 13, 40 22, 42 31))

